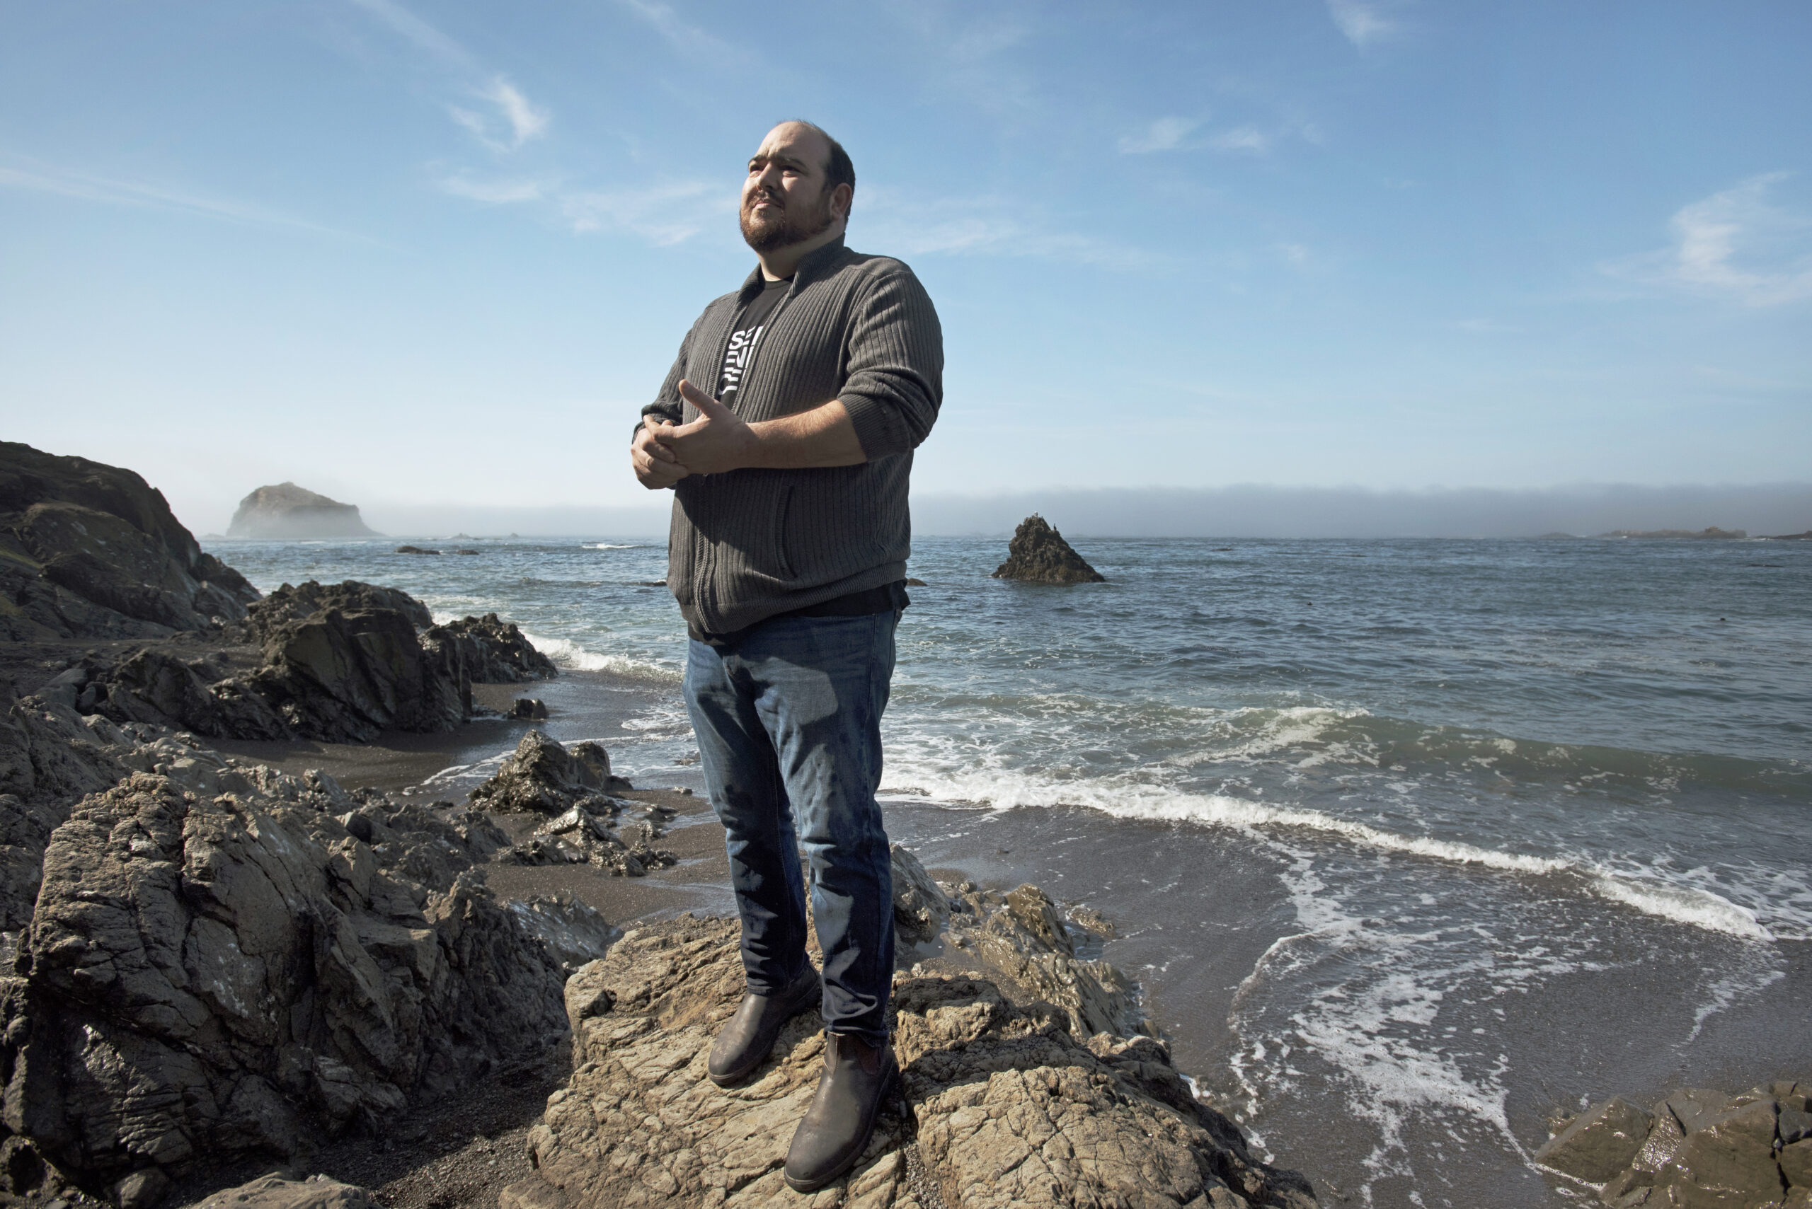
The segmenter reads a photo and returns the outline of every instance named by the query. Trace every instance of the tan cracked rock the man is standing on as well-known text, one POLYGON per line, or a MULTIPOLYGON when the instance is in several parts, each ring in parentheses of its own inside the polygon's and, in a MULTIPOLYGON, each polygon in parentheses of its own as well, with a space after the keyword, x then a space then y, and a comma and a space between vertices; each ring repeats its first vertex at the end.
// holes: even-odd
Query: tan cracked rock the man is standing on
POLYGON ((902 1095, 855 1169, 795 1196, 781 1164, 823 1066, 812 1014, 754 1079, 716 1088, 705 1059, 743 994, 739 928, 681 916, 627 934, 565 986, 571 1082, 529 1133, 536 1175, 502 1209, 587 1205, 1314 1205, 1252 1157, 1151 1037, 1076 1035, 1049 1003, 978 976, 901 972, 902 1095), (917 1175, 917 1178, 915 1178, 917 1175))

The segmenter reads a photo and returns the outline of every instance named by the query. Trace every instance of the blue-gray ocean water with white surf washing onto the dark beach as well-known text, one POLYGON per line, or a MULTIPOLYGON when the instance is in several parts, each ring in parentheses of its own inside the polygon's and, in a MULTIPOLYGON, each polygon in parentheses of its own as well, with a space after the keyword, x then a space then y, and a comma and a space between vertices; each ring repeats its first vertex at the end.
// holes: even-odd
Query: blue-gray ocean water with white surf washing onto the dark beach
MULTIPOLYGON (((701 784, 665 543, 395 545, 214 552, 495 610, 627 693, 638 784, 701 784)), ((1557 1111, 1812 1077, 1812 543, 1100 539, 1075 588, 1004 545, 915 547, 890 831, 1118 918, 1325 1204, 1575 1204, 1557 1111)))

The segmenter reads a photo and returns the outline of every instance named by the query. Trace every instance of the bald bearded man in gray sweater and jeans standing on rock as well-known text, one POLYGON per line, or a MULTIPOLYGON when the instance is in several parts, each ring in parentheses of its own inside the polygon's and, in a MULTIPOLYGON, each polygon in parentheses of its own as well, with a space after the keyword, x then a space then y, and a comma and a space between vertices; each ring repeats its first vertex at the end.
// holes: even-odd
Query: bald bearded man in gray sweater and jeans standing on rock
POLYGON ((899 261, 843 246, 853 195, 848 154, 817 127, 761 139, 741 201, 759 266, 692 324, 631 443, 636 478, 674 489, 685 699, 743 918, 748 994, 712 1046, 712 1080, 748 1077, 806 1006, 824 1017, 824 1071, 786 1155, 797 1191, 848 1171, 897 1077, 875 789, 911 451, 942 402, 931 299, 899 261))

